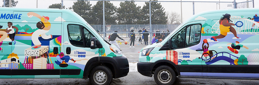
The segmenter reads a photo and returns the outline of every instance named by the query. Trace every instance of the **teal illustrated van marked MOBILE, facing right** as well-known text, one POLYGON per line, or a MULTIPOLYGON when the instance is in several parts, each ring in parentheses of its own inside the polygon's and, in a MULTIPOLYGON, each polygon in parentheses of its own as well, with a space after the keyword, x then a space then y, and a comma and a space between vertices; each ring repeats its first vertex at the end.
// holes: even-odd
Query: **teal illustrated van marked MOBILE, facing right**
POLYGON ((89 78, 111 83, 127 58, 66 9, 0 8, 0 78, 89 78))

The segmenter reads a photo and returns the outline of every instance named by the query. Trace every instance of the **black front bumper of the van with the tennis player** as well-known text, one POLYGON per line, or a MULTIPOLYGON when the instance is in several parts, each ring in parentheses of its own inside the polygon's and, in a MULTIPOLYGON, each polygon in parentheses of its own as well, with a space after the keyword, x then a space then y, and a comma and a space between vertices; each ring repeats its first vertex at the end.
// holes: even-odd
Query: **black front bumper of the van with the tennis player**
POLYGON ((147 77, 152 77, 152 69, 150 67, 152 66, 153 63, 148 63, 148 62, 138 62, 137 67, 138 67, 138 72, 144 76, 147 77))

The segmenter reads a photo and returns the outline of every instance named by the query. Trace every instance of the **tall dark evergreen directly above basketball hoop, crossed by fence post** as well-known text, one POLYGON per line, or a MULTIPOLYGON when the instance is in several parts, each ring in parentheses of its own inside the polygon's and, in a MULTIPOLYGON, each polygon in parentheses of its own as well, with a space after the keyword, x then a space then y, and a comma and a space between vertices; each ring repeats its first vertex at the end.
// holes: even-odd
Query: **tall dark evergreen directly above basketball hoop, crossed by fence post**
MULTIPOLYGON (((105 24, 116 24, 117 7, 110 1, 104 1, 104 6, 105 24)), ((89 24, 103 24, 103 1, 98 1, 96 5, 93 5, 91 15, 93 15, 93 20, 89 24)))

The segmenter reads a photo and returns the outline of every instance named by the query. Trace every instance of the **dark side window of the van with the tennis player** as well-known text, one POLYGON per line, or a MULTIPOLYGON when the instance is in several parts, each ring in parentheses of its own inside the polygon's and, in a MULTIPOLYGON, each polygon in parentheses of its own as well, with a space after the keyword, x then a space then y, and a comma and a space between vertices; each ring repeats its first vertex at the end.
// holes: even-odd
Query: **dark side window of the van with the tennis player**
POLYGON ((200 42, 201 24, 194 24, 184 27, 171 38, 174 48, 184 48, 196 45, 200 42))

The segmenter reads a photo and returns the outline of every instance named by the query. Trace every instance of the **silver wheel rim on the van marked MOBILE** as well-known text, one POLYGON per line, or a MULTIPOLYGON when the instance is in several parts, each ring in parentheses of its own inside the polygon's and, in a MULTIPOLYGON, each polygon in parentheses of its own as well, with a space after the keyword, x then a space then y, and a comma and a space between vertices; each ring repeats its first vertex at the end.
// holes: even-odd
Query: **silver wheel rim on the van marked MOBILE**
POLYGON ((95 74, 93 75, 93 80, 97 84, 104 84, 107 80, 106 73, 101 70, 96 71, 95 74))

